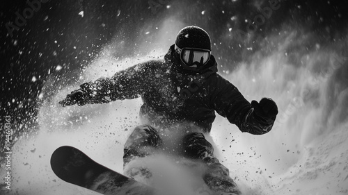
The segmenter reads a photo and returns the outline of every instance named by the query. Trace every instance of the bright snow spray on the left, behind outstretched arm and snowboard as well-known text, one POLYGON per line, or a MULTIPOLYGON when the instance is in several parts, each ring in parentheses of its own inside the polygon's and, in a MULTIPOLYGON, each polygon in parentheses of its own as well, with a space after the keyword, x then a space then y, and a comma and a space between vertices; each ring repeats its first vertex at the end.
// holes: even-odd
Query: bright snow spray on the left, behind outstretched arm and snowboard
MULTIPOLYGON (((58 105, 58 101, 78 89, 81 83, 112 76, 145 60, 163 58, 183 25, 175 18, 164 19, 155 28, 157 31, 147 33, 145 38, 140 36, 143 40, 139 42, 134 40, 137 51, 126 47, 122 37, 116 35, 84 68, 76 82, 57 80, 54 76, 48 78, 42 89, 45 98, 38 111, 38 130, 19 139, 12 148, 10 194, 95 194, 64 183, 54 175, 49 160, 53 151, 63 145, 75 146, 95 161, 122 172, 123 145, 134 127, 140 124, 141 99, 65 108, 58 105)), ((1 169, 0 175, 5 178, 6 170, 1 169)), ((1 190, 6 190, 4 187, 1 184, 1 190)))

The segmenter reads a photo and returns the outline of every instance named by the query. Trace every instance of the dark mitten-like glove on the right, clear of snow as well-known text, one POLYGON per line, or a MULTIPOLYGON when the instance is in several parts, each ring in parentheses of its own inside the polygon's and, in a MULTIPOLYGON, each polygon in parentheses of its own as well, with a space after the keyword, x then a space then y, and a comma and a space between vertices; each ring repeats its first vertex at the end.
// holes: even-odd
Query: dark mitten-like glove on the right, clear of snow
POLYGON ((251 106, 254 108, 255 115, 262 119, 275 119, 278 115, 278 106, 270 98, 262 98, 260 103, 253 100, 251 106))

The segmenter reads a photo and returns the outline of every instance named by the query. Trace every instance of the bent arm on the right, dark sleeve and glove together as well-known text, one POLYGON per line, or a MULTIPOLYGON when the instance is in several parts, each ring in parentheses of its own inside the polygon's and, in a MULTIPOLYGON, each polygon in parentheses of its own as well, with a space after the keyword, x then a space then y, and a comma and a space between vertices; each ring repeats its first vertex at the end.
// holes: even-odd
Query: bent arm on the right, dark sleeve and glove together
POLYGON ((257 101, 249 103, 237 87, 221 76, 216 78, 211 105, 219 115, 236 124, 239 130, 253 135, 269 132, 278 114, 274 101, 262 99, 260 103, 257 101))

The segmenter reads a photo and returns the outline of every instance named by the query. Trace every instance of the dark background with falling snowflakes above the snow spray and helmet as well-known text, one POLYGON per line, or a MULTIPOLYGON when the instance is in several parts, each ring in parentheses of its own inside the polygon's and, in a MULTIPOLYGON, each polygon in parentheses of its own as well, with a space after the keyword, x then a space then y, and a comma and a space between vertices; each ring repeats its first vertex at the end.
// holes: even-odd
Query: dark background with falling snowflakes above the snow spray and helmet
MULTIPOLYGON (((114 37, 125 42, 126 51, 122 51, 120 58, 133 56, 138 49, 135 43, 142 41, 144 29, 155 28, 163 18, 171 15, 181 17, 185 24, 206 29, 213 42, 222 42, 213 46, 213 50, 224 57, 220 70, 233 71, 237 62, 248 60, 255 51, 262 51, 258 40, 278 33, 284 24, 294 28, 302 26, 304 31, 315 33, 315 41, 304 43, 309 49, 318 42, 334 42, 347 35, 348 6, 347 1, 342 0, 280 1, 280 8, 274 10, 271 19, 267 19, 255 33, 248 31, 245 21, 259 15, 260 9, 269 6, 268 1, 166 2, 170 8, 157 4, 160 6, 154 10, 147 0, 51 0, 41 3, 41 8, 11 36, 6 24, 15 24, 15 13, 23 15, 29 5, 26 1, 1 1, 1 148, 5 115, 13 119, 11 125, 15 137, 29 135, 29 131, 35 132, 38 128, 37 109, 40 102, 50 96, 45 94, 38 99, 47 78, 56 78, 57 83, 59 80, 74 82, 82 69, 114 37), (81 11, 84 11, 84 17, 79 15, 81 11), (229 28, 249 34, 230 33, 226 36, 229 28), (248 50, 250 46, 254 49, 248 50), (58 65, 62 67, 60 71, 56 71, 58 65)), ((52 85, 52 92, 56 87, 58 85, 52 85)))

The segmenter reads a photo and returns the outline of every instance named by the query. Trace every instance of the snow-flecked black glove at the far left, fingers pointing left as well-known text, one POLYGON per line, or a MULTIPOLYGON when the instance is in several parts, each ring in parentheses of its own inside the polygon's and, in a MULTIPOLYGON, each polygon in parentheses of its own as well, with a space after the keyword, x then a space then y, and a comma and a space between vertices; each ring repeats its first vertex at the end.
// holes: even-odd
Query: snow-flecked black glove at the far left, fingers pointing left
POLYGON ((65 99, 59 101, 59 103, 63 105, 63 107, 66 105, 74 105, 76 103, 80 106, 90 103, 90 93, 88 92, 89 83, 84 83, 80 87, 79 90, 74 90, 68 94, 65 99))

